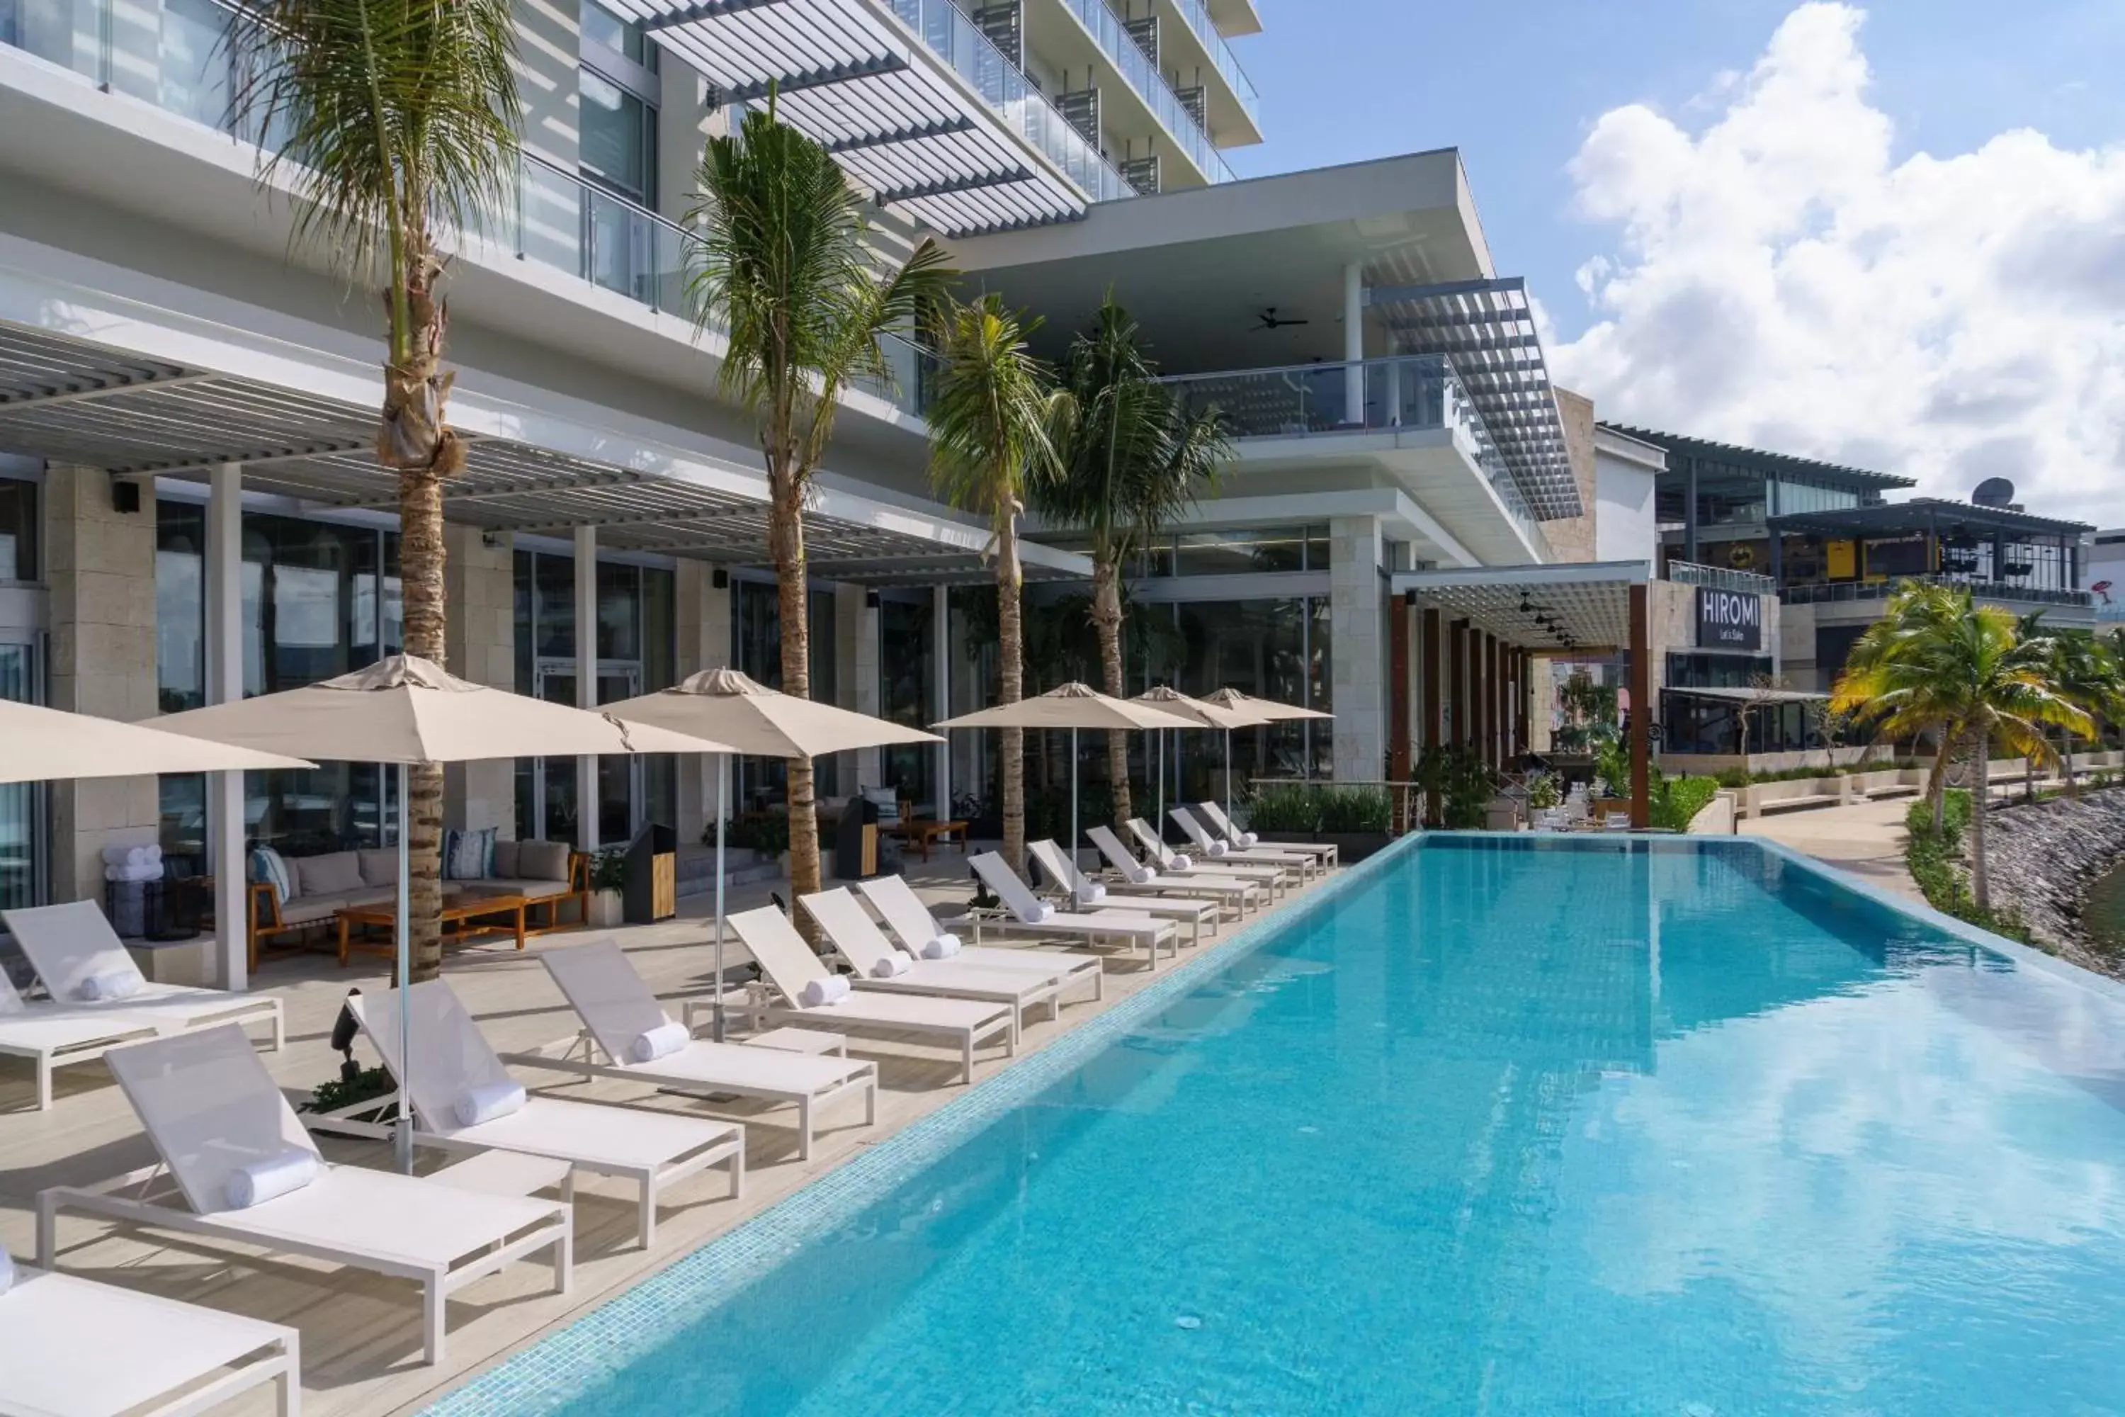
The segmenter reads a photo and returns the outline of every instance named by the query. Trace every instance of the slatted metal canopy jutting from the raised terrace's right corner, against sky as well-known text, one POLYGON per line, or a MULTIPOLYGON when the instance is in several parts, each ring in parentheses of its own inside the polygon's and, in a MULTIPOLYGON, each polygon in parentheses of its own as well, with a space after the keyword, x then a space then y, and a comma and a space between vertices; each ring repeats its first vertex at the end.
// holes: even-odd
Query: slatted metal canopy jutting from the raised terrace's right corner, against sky
POLYGON ((1536 520, 1585 510, 1524 278, 1375 287, 1364 300, 1396 353, 1454 363, 1536 520))

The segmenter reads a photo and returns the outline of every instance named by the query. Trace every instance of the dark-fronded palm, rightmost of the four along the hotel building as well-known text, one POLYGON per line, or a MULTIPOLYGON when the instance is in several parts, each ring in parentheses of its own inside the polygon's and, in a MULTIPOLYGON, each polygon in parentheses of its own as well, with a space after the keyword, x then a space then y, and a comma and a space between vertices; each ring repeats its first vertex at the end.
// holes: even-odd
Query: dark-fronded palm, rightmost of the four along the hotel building
MULTIPOLYGON (((1062 476, 1035 489, 1033 506, 1054 525, 1092 537, 1092 627, 1107 693, 1126 697, 1122 669, 1122 567, 1216 489, 1232 438, 1218 408, 1190 412, 1158 382, 1137 323, 1114 302, 1071 342, 1062 387, 1073 416, 1062 442, 1062 476)), ((1107 735, 1114 820, 1126 822, 1128 735, 1107 735)))

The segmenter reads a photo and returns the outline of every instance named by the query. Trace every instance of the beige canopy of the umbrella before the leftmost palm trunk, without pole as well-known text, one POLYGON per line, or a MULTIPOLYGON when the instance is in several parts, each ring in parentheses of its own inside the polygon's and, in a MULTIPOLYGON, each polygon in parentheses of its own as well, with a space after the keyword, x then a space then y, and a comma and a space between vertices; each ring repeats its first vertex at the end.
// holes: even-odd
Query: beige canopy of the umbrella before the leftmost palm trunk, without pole
POLYGON ((304 752, 336 763, 476 763, 597 752, 731 752, 720 741, 527 699, 444 673, 414 654, 306 688, 170 714, 187 737, 304 752))

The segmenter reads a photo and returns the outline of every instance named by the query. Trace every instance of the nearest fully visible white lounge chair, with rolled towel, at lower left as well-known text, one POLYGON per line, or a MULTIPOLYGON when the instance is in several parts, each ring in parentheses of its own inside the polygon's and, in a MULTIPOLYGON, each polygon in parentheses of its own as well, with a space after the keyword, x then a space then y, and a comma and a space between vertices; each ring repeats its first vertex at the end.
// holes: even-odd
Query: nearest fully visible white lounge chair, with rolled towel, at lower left
POLYGON ((60 1211, 85 1211, 412 1279, 431 1364, 444 1360, 444 1300, 468 1283, 544 1249, 555 1292, 567 1294, 574 1226, 565 1205, 325 1164, 234 1024, 119 1047, 104 1062, 162 1164, 96 1188, 40 1192, 40 1266, 51 1268, 57 1251, 60 1211), (308 1166, 312 1179, 236 1207, 238 1173, 278 1162, 308 1166))

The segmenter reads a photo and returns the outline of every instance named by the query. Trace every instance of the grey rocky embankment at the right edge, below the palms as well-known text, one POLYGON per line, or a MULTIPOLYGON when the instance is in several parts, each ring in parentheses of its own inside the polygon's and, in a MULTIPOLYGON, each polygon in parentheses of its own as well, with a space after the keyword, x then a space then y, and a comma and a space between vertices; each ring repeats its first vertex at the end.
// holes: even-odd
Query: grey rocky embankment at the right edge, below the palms
POLYGON ((2097 950, 2080 928, 2089 886, 2125 858, 2125 788, 2000 807, 1987 824, 1993 907, 2021 911, 2036 941, 2059 958, 2125 977, 2125 958, 2097 950))

